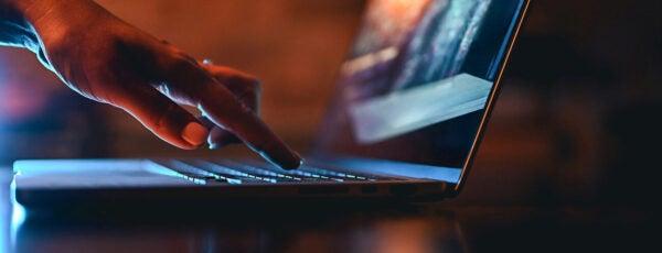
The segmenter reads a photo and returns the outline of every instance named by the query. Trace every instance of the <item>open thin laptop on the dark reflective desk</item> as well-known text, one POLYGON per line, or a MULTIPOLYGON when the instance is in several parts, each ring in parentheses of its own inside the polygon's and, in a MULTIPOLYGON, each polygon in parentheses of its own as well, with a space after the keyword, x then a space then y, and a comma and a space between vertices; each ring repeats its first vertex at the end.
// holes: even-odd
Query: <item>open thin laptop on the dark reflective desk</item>
POLYGON ((457 196, 528 1, 366 4, 319 134, 298 169, 223 156, 22 160, 13 164, 14 201, 26 209, 67 209, 457 196))

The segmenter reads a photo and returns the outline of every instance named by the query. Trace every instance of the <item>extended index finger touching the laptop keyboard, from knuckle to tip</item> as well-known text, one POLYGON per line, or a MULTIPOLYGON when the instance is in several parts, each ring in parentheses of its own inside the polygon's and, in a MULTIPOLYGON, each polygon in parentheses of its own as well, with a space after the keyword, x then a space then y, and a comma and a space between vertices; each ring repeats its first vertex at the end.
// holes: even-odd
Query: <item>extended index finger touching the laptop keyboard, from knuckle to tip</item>
POLYGON ((214 124, 234 133, 274 165, 293 169, 301 157, 263 122, 254 111, 185 54, 164 61, 162 92, 197 107, 214 124))

